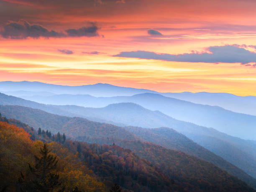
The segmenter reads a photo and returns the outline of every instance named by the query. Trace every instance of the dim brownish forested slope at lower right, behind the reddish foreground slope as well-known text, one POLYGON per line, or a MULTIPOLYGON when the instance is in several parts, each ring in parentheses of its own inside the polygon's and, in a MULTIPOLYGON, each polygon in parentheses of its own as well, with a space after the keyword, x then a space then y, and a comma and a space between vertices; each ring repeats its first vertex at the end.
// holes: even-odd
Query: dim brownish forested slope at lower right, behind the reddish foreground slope
MULTIPOLYGON (((174 179, 174 181, 179 181, 182 185, 187 182, 192 185, 197 183, 203 191, 229 190, 225 187, 220 187, 219 189, 217 187, 219 183, 221 183, 221 177, 225 175, 223 171, 207 161, 197 159, 195 156, 189 156, 180 151, 169 150, 150 142, 120 141, 112 138, 105 138, 105 140, 92 138, 90 139, 90 142, 114 142, 124 148, 130 148, 135 154, 138 154, 138 156, 141 156, 142 158, 151 161, 154 165, 159 166, 164 174, 174 179), (207 177, 204 175, 207 175, 207 177)), ((254 185, 253 180, 251 180, 251 184, 254 185)), ((198 191, 199 189, 189 188, 189 191, 191 190, 198 191)), ((240 190, 243 191, 243 189, 240 190)))

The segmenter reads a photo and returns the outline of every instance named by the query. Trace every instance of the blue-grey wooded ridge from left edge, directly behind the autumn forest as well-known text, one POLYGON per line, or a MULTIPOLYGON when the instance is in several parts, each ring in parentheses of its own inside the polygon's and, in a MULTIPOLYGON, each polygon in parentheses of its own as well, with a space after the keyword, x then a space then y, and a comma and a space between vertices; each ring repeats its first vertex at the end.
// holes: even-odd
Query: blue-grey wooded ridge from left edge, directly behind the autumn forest
POLYGON ((46 113, 38 109, 10 105, 0 105, 0 111, 3 116, 9 119, 18 119, 33 128, 48 129, 52 133, 64 132, 72 138, 77 136, 109 136, 128 140, 141 139, 124 128, 106 123, 97 123, 84 118, 70 118, 46 113))

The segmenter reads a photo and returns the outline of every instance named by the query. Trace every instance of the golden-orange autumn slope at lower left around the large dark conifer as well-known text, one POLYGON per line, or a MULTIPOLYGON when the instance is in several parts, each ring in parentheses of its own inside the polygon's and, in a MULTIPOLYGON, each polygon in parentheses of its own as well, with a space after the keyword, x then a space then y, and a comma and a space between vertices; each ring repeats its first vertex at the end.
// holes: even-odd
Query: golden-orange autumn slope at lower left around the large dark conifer
MULTIPOLYGON (((32 182, 37 176, 30 171, 28 164, 35 164, 34 156, 39 156, 41 141, 32 141, 30 135, 23 128, 17 128, 6 122, 0 122, 0 190, 1 191, 32 191, 36 187, 32 182), (22 174, 21 174, 22 173, 22 174), (21 177, 23 176, 23 177, 21 177)), ((105 191, 105 185, 97 181, 95 174, 67 148, 59 146, 58 143, 50 143, 50 148, 58 153, 56 156, 58 164, 52 171, 57 174, 58 185, 55 190, 73 191, 76 187, 82 191, 105 191), (74 177, 74 173, 79 177, 74 177), (72 179, 71 179, 72 178, 72 179)), ((48 171, 46 172, 48 174, 48 171)))

